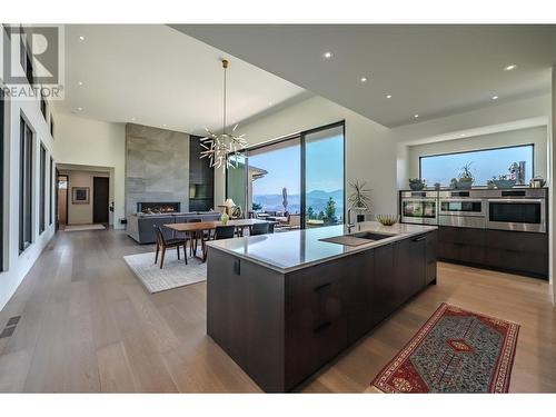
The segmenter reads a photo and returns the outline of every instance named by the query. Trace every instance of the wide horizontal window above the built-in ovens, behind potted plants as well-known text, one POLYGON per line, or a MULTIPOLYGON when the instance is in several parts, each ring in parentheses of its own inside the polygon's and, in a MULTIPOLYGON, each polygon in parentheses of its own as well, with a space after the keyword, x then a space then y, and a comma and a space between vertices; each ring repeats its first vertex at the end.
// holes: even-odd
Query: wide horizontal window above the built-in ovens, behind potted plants
POLYGON ((431 186, 439 182, 450 185, 464 166, 469 166, 475 186, 486 186, 493 177, 508 176, 528 183, 534 177, 534 145, 507 148, 483 149, 467 152, 446 153, 419 158, 420 178, 431 186), (523 173, 520 175, 519 172, 523 173))

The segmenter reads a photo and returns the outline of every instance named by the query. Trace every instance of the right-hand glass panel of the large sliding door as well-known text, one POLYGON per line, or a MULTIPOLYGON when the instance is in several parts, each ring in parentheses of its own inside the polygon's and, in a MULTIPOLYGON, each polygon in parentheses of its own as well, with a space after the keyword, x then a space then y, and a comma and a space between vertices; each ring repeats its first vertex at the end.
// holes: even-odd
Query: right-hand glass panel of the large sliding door
POLYGON ((344 123, 304 135, 306 228, 344 222, 344 123))

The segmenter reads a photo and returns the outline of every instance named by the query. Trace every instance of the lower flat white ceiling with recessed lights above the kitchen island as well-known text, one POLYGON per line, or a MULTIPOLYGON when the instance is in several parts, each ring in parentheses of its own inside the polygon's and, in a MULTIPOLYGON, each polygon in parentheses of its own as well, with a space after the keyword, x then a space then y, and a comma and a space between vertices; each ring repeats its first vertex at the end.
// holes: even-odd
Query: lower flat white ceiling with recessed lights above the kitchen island
POLYGON ((388 127, 548 92, 556 63, 556 26, 172 27, 388 127))

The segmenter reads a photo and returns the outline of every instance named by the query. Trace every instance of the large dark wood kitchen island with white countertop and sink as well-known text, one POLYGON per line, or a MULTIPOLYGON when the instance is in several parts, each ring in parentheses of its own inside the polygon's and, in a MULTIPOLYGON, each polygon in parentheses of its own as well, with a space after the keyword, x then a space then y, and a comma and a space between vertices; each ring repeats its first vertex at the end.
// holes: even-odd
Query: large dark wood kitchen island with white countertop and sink
POLYGON ((265 391, 289 391, 433 282, 431 226, 211 241, 207 332, 265 391))

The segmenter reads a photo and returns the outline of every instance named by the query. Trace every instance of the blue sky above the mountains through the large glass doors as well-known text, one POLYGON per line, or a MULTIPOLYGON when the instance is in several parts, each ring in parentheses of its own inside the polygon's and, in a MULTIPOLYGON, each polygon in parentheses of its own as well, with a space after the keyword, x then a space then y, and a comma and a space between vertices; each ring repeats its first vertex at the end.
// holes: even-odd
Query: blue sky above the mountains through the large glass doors
MULTIPOLYGON (((344 188, 344 143, 340 136, 307 142, 307 189, 335 191, 344 188)), ((254 182, 254 195, 300 193, 300 147, 288 147, 249 157, 249 165, 267 170, 254 182)))

